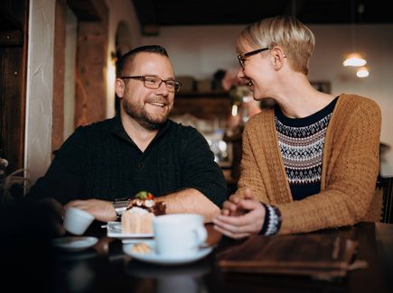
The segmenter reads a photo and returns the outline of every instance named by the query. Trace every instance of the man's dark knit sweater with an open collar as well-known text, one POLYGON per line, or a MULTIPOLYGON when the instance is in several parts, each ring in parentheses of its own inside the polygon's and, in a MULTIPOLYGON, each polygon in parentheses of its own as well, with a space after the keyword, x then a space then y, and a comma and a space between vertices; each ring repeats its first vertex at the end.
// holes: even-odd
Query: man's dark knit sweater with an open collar
POLYGON ((70 135, 28 197, 66 204, 77 198, 133 197, 141 190, 160 197, 182 188, 198 189, 217 206, 227 197, 222 171, 203 136, 168 120, 142 152, 117 115, 70 135))

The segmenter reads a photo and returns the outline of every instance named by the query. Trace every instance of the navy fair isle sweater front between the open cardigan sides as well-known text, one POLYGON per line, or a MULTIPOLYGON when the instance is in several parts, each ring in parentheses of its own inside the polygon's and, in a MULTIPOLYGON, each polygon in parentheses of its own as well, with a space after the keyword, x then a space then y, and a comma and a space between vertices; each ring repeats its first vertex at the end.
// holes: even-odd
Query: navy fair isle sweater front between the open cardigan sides
POLYGON ((288 118, 275 107, 278 143, 294 200, 320 191, 324 137, 337 99, 300 119, 288 118))

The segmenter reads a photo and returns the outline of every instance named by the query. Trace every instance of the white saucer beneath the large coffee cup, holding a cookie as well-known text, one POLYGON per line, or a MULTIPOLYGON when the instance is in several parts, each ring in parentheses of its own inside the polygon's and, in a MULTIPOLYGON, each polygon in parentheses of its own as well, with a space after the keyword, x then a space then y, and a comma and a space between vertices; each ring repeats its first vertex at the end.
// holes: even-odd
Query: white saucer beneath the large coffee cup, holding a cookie
POLYGON ((211 251, 213 250, 212 247, 203 247, 198 252, 192 253, 186 257, 173 258, 173 257, 165 257, 165 256, 162 256, 162 255, 154 252, 154 240, 144 241, 144 243, 146 243, 147 245, 149 245, 152 248, 152 252, 149 252, 149 253, 131 252, 132 247, 135 245, 135 243, 123 244, 123 252, 132 256, 134 259, 136 259, 138 261, 146 261, 146 262, 151 262, 151 263, 156 263, 156 264, 161 264, 161 265, 177 265, 177 264, 185 264, 185 263, 189 263, 192 261, 201 260, 206 255, 211 253, 211 251))

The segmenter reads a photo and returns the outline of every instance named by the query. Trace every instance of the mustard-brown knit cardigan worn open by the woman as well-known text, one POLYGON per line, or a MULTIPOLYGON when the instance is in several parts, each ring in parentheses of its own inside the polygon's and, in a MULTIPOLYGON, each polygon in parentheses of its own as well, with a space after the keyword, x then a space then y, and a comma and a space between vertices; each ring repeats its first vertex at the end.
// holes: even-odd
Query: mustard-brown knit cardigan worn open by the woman
POLYGON ((280 209, 279 233, 352 225, 364 220, 370 208, 380 208, 371 205, 379 172, 381 123, 374 101, 339 97, 324 141, 321 191, 299 201, 292 199, 274 117, 270 108, 248 120, 239 189, 251 188, 257 200, 280 209))

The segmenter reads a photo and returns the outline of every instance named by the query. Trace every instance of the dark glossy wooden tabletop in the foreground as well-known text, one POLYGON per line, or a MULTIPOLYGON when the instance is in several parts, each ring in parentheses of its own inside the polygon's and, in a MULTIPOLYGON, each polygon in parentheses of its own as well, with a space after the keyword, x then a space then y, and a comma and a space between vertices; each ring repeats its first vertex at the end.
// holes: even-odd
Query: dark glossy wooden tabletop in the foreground
MULTIPOLYGON (((352 270, 343 279, 317 280, 301 276, 225 272, 218 255, 241 245, 215 232, 210 224, 208 242, 213 252, 201 261, 181 266, 154 265, 133 260, 120 240, 108 238, 94 223, 86 233, 98 243, 84 252, 31 251, 30 265, 16 258, 19 282, 51 292, 393 292, 393 224, 360 223, 351 228, 318 233, 354 233, 359 241, 356 258, 367 269, 352 270), (33 254, 35 253, 35 254, 33 254)), ((259 236, 258 236, 259 237, 259 236)), ((29 246, 24 243, 24 250, 29 246)), ((23 255, 30 255, 23 251, 23 255)), ((28 286, 26 286, 28 288, 28 286)))

